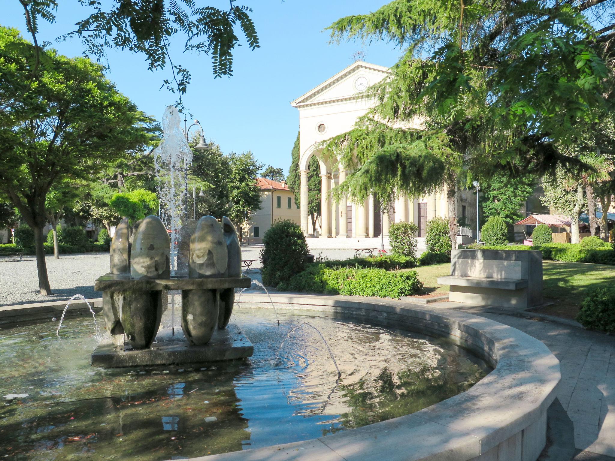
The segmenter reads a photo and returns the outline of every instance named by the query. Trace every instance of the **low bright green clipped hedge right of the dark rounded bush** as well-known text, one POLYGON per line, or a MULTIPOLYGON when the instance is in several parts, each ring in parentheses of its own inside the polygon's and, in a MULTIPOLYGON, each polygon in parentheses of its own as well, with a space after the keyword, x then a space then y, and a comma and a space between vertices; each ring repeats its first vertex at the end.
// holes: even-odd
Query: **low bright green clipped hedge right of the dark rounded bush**
POLYGON ((384 269, 333 269, 325 264, 308 264, 303 272, 277 286, 282 291, 343 294, 345 296, 378 296, 399 299, 423 289, 416 270, 387 272, 384 269))

